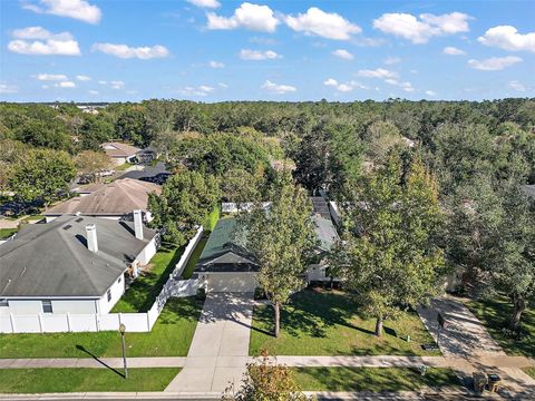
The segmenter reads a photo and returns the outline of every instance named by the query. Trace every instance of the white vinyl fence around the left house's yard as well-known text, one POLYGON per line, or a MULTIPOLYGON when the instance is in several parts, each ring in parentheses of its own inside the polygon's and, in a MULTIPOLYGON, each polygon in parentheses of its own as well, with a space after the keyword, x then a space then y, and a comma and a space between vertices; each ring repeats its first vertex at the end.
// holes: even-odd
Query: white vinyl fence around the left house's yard
POLYGON ((145 313, 39 313, 28 315, 0 315, 0 333, 61 333, 117 331, 123 323, 128 332, 149 332, 167 300, 172 296, 193 296, 198 288, 198 280, 179 280, 189 256, 203 235, 203 227, 197 229, 189 241, 169 280, 156 297, 153 306, 145 313))

